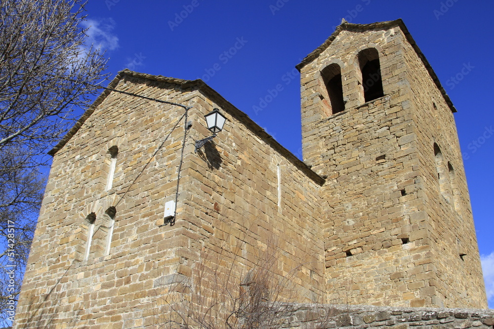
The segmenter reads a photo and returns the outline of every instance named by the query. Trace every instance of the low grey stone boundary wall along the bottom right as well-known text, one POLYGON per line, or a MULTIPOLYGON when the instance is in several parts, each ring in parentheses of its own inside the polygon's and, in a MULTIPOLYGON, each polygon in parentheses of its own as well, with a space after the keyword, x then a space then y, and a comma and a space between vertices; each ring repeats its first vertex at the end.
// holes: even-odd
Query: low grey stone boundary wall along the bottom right
POLYGON ((493 329, 494 310, 289 304, 280 328, 493 329))

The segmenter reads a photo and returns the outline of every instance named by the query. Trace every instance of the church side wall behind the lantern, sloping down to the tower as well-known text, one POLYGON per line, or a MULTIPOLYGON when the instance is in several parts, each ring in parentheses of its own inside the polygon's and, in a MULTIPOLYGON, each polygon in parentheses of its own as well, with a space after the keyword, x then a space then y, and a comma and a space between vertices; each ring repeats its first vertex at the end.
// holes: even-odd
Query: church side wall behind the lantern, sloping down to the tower
MULTIPOLYGON (((296 300, 323 301, 320 185, 304 174, 301 161, 287 157, 271 138, 260 138, 268 135, 223 98, 211 99, 201 91, 192 95, 193 140, 210 135, 204 114, 213 108, 226 115, 227 123, 197 154, 190 149, 184 167, 192 180, 185 201, 191 238, 201 242, 209 266, 222 271, 234 264, 237 280, 274 244, 279 254, 273 271, 293 276, 296 300)), ((201 254, 199 249, 189 252, 201 254)), ((193 262, 187 266, 194 272, 193 262)))

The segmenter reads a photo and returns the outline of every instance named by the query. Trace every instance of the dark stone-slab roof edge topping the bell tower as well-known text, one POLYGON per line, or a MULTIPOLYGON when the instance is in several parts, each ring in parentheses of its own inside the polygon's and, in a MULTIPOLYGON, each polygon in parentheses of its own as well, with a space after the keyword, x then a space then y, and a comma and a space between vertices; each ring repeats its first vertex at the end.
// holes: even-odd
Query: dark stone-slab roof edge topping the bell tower
POLYGON ((408 42, 412 45, 413 50, 417 53, 418 57, 422 61, 422 63, 425 66, 425 69, 431 76, 432 80, 434 81, 434 84, 436 87, 439 89, 439 92, 443 95, 443 98, 446 102, 446 104, 450 107, 450 110, 455 113, 457 112, 456 108, 453 105, 453 102, 451 101, 450 97, 446 93, 446 90, 444 89, 443 85, 439 81, 439 78, 437 77, 437 74, 434 72, 432 69, 432 66, 429 64, 427 59, 425 58, 424 54, 420 50, 420 48, 417 46, 415 40, 413 39, 412 35, 407 29, 407 26, 403 22, 401 18, 398 18, 394 21, 385 21, 385 22, 376 22, 376 23, 371 23, 371 24, 353 24, 353 23, 348 23, 343 20, 343 22, 336 27, 336 30, 329 36, 326 41, 317 47, 314 51, 312 51, 309 55, 307 55, 302 62, 297 64, 295 68, 298 70, 298 72, 301 71, 301 69, 306 66, 307 64, 311 63, 313 60, 315 60, 324 50, 326 50, 329 45, 333 42, 333 40, 341 33, 341 31, 346 30, 360 30, 360 31, 368 31, 372 29, 383 29, 383 28, 391 28, 398 26, 402 30, 403 34, 407 38, 408 42))

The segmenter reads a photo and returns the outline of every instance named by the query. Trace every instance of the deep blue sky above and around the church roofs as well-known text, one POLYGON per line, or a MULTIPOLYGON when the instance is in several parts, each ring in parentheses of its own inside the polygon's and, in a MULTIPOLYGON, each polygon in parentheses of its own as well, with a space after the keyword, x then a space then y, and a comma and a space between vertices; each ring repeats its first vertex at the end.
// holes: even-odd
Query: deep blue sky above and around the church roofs
POLYGON ((107 49, 112 75, 129 68, 202 78, 301 157, 295 65, 342 18, 360 24, 402 18, 458 110, 455 120, 493 308, 493 9, 493 1, 480 0, 97 0, 87 5, 87 26, 90 40, 107 49), (283 90, 258 110, 277 84, 283 90))

